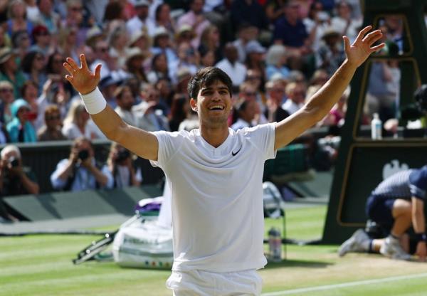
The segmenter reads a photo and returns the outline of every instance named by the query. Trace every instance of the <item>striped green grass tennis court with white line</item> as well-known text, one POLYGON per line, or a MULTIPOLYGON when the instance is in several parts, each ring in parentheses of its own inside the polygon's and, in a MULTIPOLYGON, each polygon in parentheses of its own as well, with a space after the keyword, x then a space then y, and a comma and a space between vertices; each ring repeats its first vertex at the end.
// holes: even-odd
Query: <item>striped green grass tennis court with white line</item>
MULTIPOLYGON (((288 238, 320 238, 326 211, 327 206, 288 209, 288 238)), ((266 220, 265 229, 275 224, 280 226, 281 222, 266 220)), ((0 238, 0 295, 172 295, 164 286, 169 270, 120 268, 115 263, 93 261, 73 265, 71 259, 97 238, 76 235, 0 238)), ((287 260, 260 270, 263 295, 427 295, 427 263, 366 254, 338 258, 337 247, 287 245, 287 260)))

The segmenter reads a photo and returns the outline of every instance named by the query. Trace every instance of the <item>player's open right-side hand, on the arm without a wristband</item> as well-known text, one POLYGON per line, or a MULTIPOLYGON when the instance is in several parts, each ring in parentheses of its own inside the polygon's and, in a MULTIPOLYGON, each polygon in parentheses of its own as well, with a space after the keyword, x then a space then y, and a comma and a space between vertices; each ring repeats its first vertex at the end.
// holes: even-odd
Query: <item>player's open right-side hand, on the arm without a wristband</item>
POLYGON ((376 41, 381 39, 383 34, 380 30, 375 30, 371 33, 368 33, 371 28, 372 26, 363 28, 362 31, 359 32, 359 35, 357 35, 357 38, 352 45, 350 45, 349 38, 347 36, 343 36, 344 51, 347 55, 347 60, 349 63, 352 63, 352 65, 359 67, 359 65, 362 65, 362 63, 367 60, 371 53, 379 51, 379 49, 385 46, 384 43, 381 43, 378 46, 372 46, 376 41))

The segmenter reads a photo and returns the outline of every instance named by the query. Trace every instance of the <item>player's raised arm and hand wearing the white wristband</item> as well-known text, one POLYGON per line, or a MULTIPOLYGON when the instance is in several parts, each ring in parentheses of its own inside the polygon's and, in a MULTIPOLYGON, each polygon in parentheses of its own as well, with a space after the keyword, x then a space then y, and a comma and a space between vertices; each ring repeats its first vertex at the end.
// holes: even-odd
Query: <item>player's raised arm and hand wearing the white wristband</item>
POLYGON ((86 63, 85 55, 80 55, 79 67, 75 60, 67 58, 64 67, 68 70, 65 78, 70 81, 85 103, 86 110, 93 121, 108 139, 121 144, 144 159, 157 160, 159 142, 154 134, 137 127, 127 125, 112 108, 107 105, 105 98, 97 89, 100 81, 101 65, 97 65, 95 73, 91 72, 86 63))

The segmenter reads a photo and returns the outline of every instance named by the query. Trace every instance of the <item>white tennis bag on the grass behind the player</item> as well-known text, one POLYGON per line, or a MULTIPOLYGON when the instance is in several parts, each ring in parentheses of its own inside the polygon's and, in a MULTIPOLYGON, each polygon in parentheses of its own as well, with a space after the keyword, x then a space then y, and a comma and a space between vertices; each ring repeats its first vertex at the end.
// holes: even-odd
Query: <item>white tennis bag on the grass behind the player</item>
POLYGON ((157 217, 135 215, 120 226, 112 243, 115 262, 129 268, 172 268, 172 228, 159 226, 157 217))

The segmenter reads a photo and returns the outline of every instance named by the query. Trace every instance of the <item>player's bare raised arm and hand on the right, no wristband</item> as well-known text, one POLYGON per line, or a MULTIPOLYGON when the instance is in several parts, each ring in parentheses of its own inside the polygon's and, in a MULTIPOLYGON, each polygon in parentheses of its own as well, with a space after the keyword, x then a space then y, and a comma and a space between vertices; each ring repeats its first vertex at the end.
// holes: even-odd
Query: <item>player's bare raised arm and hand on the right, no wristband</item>
POLYGON ((343 37, 344 51, 347 55, 346 60, 330 80, 308 100, 304 107, 276 124, 275 149, 292 142, 306 129, 322 120, 344 93, 357 67, 362 65, 371 53, 384 47, 384 43, 372 46, 376 41, 379 41, 382 33, 379 30, 368 33, 371 28, 371 26, 367 26, 360 31, 352 45, 350 45, 347 36, 343 37))

